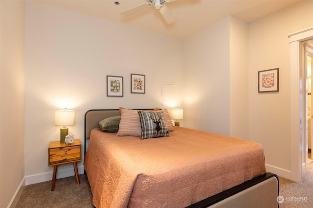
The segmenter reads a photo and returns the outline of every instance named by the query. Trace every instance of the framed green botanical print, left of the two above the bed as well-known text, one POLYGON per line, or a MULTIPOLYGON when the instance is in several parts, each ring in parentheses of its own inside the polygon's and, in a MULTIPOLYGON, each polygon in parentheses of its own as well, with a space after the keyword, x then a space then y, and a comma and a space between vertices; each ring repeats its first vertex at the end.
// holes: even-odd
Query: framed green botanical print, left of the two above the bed
POLYGON ((107 96, 123 96, 123 76, 107 76, 107 96))

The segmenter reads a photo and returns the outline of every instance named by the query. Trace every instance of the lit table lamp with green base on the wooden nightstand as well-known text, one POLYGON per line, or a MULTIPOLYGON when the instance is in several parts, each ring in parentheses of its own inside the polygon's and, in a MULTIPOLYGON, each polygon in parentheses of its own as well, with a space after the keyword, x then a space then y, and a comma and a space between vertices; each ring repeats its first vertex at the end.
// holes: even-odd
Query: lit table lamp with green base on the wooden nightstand
POLYGON ((74 125, 75 123, 75 111, 74 110, 56 110, 55 111, 55 125, 63 126, 61 128, 60 143, 65 143, 65 136, 68 134, 68 128, 66 126, 74 125))

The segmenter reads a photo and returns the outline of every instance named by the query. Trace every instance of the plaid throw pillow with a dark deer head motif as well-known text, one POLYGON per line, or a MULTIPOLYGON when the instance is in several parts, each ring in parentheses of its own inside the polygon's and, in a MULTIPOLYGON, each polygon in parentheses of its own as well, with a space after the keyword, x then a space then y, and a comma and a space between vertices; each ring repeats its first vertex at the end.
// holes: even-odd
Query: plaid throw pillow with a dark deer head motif
POLYGON ((141 138, 168 136, 163 112, 138 111, 141 123, 141 138))

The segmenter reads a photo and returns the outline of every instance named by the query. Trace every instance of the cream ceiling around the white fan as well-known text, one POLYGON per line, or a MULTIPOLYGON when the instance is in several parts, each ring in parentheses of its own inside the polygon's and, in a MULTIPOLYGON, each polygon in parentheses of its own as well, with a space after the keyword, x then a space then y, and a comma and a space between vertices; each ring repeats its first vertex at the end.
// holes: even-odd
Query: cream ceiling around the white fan
POLYGON ((177 19, 168 25, 153 6, 124 17, 120 12, 148 0, 37 0, 173 38, 188 38, 209 25, 234 16, 247 23, 264 18, 301 0, 175 0, 166 2, 177 19), (119 5, 114 2, 118 1, 119 5))

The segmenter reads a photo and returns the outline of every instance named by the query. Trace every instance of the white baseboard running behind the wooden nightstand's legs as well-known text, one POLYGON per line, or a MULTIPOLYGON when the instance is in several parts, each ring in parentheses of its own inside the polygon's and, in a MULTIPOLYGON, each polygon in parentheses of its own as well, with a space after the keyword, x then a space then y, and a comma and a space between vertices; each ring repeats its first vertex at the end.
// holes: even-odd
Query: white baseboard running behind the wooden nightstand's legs
MULTIPOLYGON (((84 173, 84 166, 78 166, 78 174, 83 174, 84 173)), ((67 169, 59 169, 57 170, 57 177, 56 179, 59 178, 66 178, 69 176, 75 175, 74 168, 67 168, 67 169)), ((25 176, 26 178, 26 186, 30 184, 37 184, 45 181, 51 181, 53 176, 53 171, 50 172, 43 172, 39 174, 33 174, 33 175, 28 175, 25 176)))

